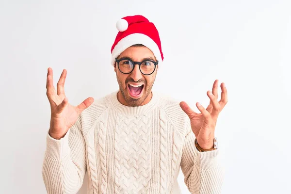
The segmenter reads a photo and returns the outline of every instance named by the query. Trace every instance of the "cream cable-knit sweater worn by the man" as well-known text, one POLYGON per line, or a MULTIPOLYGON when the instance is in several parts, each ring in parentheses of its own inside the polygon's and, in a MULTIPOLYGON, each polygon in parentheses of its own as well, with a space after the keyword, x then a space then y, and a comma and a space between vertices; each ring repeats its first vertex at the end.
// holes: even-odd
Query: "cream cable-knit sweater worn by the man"
POLYGON ((117 91, 95 100, 65 137, 47 134, 43 179, 49 194, 180 194, 179 169, 192 194, 221 193, 219 149, 199 152, 179 103, 153 92, 149 103, 122 105, 117 91))

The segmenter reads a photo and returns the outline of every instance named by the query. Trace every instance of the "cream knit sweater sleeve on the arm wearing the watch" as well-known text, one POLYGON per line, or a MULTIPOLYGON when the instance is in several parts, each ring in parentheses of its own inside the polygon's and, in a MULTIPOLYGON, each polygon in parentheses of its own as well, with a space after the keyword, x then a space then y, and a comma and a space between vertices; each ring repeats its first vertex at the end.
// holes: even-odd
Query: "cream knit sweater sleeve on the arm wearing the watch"
POLYGON ((181 158, 184 182, 191 194, 220 194, 224 168, 219 161, 219 149, 199 152, 194 144, 195 135, 190 124, 187 124, 187 128, 181 158))

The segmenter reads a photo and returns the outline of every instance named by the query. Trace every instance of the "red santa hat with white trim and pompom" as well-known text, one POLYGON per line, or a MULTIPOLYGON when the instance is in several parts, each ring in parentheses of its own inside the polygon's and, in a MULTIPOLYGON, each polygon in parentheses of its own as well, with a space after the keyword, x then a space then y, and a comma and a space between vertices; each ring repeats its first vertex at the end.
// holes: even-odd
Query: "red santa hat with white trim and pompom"
MULTIPOLYGON (((163 61, 159 32, 152 22, 144 16, 126 16, 116 23, 119 31, 111 48, 111 64, 125 49, 135 44, 142 44, 150 49, 159 62, 163 61)), ((159 63, 160 64, 160 63, 159 63)))

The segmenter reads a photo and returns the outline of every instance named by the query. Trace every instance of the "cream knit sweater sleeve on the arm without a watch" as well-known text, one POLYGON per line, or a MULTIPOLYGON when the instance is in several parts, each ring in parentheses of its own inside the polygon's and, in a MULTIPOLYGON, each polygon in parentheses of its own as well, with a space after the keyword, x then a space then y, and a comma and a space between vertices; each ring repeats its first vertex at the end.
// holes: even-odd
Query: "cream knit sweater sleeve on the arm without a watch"
POLYGON ((76 194, 82 186, 86 168, 86 147, 81 116, 60 140, 47 134, 42 176, 48 194, 76 194))

